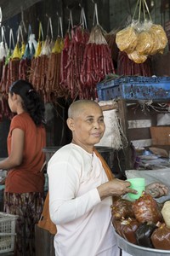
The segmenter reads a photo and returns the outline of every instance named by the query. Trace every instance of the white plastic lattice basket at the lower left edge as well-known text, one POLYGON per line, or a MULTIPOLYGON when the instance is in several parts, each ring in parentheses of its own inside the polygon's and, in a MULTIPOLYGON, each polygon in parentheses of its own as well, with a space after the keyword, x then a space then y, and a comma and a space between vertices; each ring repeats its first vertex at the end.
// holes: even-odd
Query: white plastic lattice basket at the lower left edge
POLYGON ((0 254, 14 251, 17 215, 0 212, 0 254))

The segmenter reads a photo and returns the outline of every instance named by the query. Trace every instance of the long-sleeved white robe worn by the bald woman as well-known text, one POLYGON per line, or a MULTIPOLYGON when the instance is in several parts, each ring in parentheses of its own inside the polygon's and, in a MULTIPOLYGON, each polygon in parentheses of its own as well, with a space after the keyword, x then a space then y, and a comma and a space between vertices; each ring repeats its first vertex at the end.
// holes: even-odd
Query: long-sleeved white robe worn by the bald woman
POLYGON ((119 256, 111 224, 111 197, 97 187, 108 181, 101 161, 71 143, 48 162, 49 210, 59 256, 119 256))

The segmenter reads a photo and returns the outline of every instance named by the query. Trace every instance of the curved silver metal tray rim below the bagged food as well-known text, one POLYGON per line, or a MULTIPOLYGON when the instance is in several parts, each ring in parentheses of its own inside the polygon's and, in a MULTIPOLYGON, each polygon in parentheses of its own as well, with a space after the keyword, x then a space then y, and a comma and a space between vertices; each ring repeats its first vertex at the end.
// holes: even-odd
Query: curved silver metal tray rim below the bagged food
POLYGON ((119 236, 116 232, 117 246, 123 251, 133 256, 166 256, 170 255, 169 250, 158 250, 147 247, 139 247, 131 242, 126 241, 124 238, 119 236))

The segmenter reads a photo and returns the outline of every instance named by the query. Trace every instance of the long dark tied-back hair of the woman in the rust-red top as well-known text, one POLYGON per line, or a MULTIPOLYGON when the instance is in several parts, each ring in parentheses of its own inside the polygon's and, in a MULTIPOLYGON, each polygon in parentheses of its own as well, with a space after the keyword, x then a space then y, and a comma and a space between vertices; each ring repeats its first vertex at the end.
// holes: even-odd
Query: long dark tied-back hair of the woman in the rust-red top
POLYGON ((8 92, 11 95, 15 93, 21 97, 24 110, 30 114, 31 119, 37 126, 45 123, 44 102, 42 102, 41 96, 32 84, 25 80, 17 80, 9 87, 8 92))

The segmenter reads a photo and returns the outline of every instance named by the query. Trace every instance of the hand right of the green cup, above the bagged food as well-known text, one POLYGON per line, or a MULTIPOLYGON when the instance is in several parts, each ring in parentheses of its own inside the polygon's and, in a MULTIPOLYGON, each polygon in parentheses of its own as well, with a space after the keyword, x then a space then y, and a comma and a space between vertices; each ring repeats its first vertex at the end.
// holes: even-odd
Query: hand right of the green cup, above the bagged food
POLYGON ((152 195, 155 198, 167 195, 169 188, 163 183, 150 183, 146 186, 145 192, 152 195))

